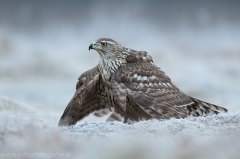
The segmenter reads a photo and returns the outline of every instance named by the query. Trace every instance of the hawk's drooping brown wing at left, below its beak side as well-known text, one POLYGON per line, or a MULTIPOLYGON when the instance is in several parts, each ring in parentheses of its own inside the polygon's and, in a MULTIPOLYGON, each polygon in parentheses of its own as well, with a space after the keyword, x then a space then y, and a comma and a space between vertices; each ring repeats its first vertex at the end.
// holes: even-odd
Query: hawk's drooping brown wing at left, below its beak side
POLYGON ((98 100, 94 94, 99 75, 97 67, 94 67, 79 77, 76 93, 63 112, 59 126, 76 124, 90 113, 106 108, 107 105, 98 100))

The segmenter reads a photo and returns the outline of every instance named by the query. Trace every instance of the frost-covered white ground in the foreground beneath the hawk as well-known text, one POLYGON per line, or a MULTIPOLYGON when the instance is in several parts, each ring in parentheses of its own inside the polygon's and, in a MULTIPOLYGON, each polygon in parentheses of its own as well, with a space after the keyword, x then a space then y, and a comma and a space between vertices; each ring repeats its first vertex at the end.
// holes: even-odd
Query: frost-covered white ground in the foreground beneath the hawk
POLYGON ((59 128, 58 114, 53 112, 28 108, 7 98, 0 99, 0 110, 0 155, 27 152, 37 158, 45 153, 47 158, 46 154, 63 153, 81 159, 239 157, 240 112, 134 124, 85 122, 59 128))

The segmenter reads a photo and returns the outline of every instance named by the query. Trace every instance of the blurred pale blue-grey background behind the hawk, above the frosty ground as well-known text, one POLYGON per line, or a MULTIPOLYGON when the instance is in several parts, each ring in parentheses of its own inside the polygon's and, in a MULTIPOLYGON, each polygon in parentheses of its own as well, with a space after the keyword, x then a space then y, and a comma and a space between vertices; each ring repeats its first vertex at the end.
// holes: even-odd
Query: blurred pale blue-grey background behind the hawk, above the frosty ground
POLYGON ((147 51, 186 94, 240 109, 240 1, 1 0, 0 96, 62 114, 98 38, 147 51))

